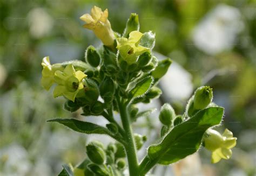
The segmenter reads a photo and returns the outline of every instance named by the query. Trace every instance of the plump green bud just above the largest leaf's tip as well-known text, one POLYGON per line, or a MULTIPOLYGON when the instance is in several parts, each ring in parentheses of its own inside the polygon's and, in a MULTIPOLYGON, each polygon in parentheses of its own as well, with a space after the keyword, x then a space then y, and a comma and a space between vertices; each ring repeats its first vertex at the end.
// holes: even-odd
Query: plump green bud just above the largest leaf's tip
POLYGON ((194 108, 204 109, 212 102, 212 89, 208 86, 199 87, 194 93, 194 108))

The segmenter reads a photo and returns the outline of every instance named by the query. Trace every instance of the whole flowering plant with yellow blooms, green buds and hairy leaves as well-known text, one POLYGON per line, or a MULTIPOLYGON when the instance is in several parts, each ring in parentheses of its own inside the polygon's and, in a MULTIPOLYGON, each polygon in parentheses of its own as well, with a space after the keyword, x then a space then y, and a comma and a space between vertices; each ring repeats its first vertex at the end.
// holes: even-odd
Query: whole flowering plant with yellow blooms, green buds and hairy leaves
POLYGON ((161 107, 160 138, 138 161, 137 151, 143 149, 147 138, 133 133, 132 125, 151 110, 139 111, 136 104, 149 103, 160 96, 157 84, 172 61, 154 57, 155 35, 151 31, 139 32, 136 13, 127 20, 122 35, 112 30, 107 17, 107 9, 102 11, 97 6, 91 14, 80 17, 84 27, 103 43, 99 48, 87 47, 84 61, 53 65, 49 57, 42 61, 42 85, 46 90, 56 85, 53 96, 66 98, 64 109, 73 112, 82 108, 83 116, 103 116, 109 121, 106 126, 74 118, 49 122, 81 133, 109 135, 116 140, 106 147, 98 141, 87 144, 84 161, 75 167, 64 165, 59 175, 124 175, 127 169, 132 176, 145 175, 157 164, 175 163, 197 152, 200 146, 212 152, 212 163, 229 159, 237 138, 227 129, 223 135, 212 129, 221 123, 224 108, 212 102, 212 89, 203 86, 194 92, 183 115, 177 115, 169 103, 161 107), (113 111, 119 113, 122 124, 117 123, 113 111))

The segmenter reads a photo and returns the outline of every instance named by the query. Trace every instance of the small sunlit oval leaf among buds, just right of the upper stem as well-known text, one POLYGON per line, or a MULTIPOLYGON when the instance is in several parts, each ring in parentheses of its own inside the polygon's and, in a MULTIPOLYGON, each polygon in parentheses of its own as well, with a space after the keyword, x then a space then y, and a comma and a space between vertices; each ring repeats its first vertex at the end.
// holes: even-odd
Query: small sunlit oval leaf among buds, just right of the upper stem
POLYGON ((147 91, 149 91, 152 83, 153 83, 152 76, 149 76, 149 77, 144 78, 143 80, 140 80, 136 84, 136 86, 133 89, 131 89, 131 91, 129 93, 129 97, 136 98, 136 97, 143 96, 144 94, 147 93, 147 91))

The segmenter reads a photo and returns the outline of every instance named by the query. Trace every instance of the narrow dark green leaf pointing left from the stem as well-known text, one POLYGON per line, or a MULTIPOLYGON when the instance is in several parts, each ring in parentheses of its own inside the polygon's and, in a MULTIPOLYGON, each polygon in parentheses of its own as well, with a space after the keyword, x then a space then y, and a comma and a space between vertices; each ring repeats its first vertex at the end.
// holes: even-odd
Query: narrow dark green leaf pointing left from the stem
POLYGON ((56 119, 51 119, 47 122, 58 122, 60 124, 63 124, 65 126, 68 126, 70 129, 77 131, 77 132, 82 132, 86 134, 107 134, 109 135, 109 130, 106 128, 96 125, 94 123, 90 122, 84 122, 84 121, 78 121, 77 119, 73 118, 56 118, 56 119))

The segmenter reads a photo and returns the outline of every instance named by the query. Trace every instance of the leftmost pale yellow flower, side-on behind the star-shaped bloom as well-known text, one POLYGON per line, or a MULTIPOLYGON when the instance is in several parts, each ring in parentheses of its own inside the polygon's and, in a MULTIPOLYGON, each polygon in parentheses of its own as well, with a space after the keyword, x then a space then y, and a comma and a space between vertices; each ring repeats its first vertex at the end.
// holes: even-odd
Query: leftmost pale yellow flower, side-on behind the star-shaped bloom
POLYGON ((56 71, 63 71, 64 67, 60 64, 51 65, 49 57, 44 57, 41 65, 43 66, 41 84, 44 89, 49 90, 54 83, 54 73, 56 71))

